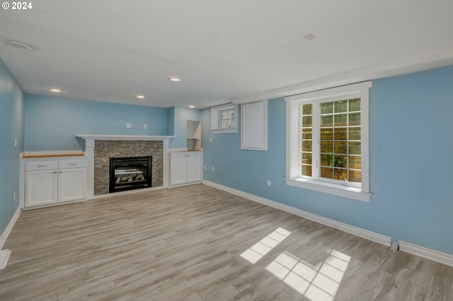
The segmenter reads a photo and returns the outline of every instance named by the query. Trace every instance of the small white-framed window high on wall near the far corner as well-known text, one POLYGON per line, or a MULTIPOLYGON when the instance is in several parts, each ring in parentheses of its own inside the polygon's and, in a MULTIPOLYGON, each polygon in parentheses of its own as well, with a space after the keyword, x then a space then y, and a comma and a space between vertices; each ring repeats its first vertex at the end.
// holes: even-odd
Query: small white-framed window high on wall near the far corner
POLYGON ((232 103, 211 108, 212 133, 237 133, 238 105, 232 103))

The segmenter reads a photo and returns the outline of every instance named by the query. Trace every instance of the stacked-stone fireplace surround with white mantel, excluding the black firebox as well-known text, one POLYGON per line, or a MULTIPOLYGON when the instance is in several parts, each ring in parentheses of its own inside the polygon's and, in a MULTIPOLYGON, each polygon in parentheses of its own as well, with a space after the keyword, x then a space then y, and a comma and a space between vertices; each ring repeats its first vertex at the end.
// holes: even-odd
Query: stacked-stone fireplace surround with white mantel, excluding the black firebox
POLYGON ((168 187, 168 140, 173 136, 76 135, 85 141, 87 196, 109 193, 110 158, 151 156, 151 188, 168 187))

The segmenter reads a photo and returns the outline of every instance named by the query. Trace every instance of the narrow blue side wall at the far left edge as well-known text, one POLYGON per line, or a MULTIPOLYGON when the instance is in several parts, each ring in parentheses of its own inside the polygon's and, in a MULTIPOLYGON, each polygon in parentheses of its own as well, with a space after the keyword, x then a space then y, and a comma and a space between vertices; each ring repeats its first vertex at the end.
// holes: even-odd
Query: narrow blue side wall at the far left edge
POLYGON ((19 155, 23 152, 23 91, 0 59, 0 235, 19 206, 19 155), (14 139, 17 146, 14 147, 14 139), (13 195, 16 192, 16 201, 13 195))

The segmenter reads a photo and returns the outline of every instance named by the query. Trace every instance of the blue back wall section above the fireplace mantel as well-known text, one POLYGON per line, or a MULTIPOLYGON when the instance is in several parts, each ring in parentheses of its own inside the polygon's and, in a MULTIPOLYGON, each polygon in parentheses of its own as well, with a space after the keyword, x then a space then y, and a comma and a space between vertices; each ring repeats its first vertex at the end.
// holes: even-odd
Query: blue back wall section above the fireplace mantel
POLYGON ((25 95, 25 151, 81 150, 74 134, 161 136, 167 127, 166 108, 25 95))

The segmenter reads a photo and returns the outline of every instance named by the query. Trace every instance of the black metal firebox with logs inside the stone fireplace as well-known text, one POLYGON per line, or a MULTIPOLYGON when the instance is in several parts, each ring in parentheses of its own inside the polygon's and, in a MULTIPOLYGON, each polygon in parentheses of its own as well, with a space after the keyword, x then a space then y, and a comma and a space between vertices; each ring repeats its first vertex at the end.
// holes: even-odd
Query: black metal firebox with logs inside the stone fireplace
POLYGON ((152 156, 110 158, 109 192, 151 187, 152 156))

